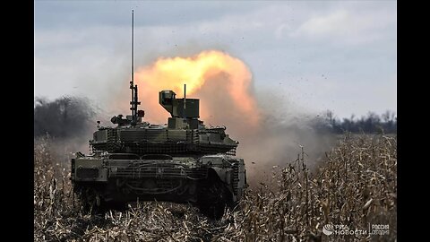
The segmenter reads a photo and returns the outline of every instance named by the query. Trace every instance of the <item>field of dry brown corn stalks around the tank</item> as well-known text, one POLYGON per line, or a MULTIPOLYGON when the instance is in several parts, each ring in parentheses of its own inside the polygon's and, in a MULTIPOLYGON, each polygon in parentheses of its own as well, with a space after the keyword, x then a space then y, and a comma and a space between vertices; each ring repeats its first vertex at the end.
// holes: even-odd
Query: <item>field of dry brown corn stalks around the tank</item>
MULTIPOLYGON (((53 140, 34 144, 35 241, 395 241, 397 137, 345 134, 319 167, 308 169, 305 150, 271 183, 248 187, 245 198, 220 220, 190 204, 137 202, 125 212, 85 214, 73 196, 68 158, 53 140), (388 235, 323 234, 325 224, 388 235)), ((248 177, 251 179, 251 177, 248 177)))

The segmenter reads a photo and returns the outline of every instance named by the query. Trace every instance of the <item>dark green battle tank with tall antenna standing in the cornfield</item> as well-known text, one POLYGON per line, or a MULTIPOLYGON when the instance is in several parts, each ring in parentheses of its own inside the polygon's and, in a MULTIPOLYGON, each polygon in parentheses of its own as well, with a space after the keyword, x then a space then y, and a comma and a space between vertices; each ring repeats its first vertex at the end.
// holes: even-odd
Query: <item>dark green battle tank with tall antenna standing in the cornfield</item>
POLYGON ((186 98, 186 86, 183 98, 176 98, 174 91, 159 91, 168 122, 145 122, 144 111, 138 110, 133 55, 130 89, 132 114, 112 117, 115 126, 98 121, 90 154, 77 152, 71 160, 73 191, 83 207, 101 212, 137 200, 193 203, 218 219, 226 206, 239 202, 247 185, 245 162, 236 157, 238 142, 225 126, 203 124, 199 99, 186 98))

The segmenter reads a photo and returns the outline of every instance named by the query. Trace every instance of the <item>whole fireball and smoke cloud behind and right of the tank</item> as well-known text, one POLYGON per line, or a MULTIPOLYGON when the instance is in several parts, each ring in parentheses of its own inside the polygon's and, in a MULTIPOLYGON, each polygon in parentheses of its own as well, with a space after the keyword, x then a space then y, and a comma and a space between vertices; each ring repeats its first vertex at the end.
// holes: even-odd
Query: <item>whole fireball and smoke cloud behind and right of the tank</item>
POLYGON ((159 58, 138 70, 142 108, 146 120, 166 123, 168 113, 159 106, 158 93, 173 90, 201 102, 200 116, 206 125, 226 125, 239 141, 237 156, 245 159, 248 182, 254 185, 271 177, 273 166, 297 159, 304 148, 311 169, 334 142, 331 134, 314 129, 314 117, 280 99, 271 91, 255 95, 252 73, 238 58, 216 50, 195 56, 159 58), (259 101, 260 100, 260 101, 259 101))

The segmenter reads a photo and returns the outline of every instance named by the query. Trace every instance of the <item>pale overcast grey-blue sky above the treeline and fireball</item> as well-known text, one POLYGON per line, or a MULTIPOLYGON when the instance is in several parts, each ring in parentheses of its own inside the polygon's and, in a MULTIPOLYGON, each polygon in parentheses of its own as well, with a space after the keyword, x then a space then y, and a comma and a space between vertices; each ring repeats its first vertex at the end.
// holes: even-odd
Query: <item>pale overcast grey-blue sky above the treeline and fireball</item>
POLYGON ((35 1, 34 96, 125 95, 134 9, 136 68, 218 49, 245 62, 260 99, 338 117, 396 111, 396 4, 35 1))

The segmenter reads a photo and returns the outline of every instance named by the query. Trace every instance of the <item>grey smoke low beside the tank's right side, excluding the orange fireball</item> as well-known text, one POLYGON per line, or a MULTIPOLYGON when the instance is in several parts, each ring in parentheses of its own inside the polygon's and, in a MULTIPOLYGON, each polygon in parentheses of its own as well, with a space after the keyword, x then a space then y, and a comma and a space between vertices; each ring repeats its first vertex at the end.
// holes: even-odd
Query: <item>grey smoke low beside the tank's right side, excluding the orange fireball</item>
POLYGON ((336 142, 334 134, 315 128, 315 119, 310 114, 285 115, 280 111, 285 107, 276 106, 263 109, 260 128, 245 135, 239 144, 237 154, 245 159, 251 186, 269 182, 273 171, 294 163, 302 149, 306 167, 314 170, 336 142))

